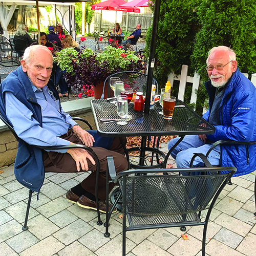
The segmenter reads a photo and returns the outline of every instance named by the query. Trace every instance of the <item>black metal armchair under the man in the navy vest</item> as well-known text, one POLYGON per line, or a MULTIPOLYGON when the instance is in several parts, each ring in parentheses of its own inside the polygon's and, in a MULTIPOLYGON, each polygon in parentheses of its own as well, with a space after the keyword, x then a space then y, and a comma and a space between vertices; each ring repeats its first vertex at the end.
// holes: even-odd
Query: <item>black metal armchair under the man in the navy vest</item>
MULTIPOLYGON (((17 134, 15 133, 15 131, 13 130, 13 127, 10 125, 10 123, 4 118, 4 116, 2 115, 2 113, 0 112, 0 119, 7 125, 7 127, 9 128, 9 130, 12 132, 12 134, 14 135, 14 137, 16 138, 17 141, 19 141, 19 137, 17 136, 17 134)), ((80 117, 72 117, 73 120, 76 121, 81 121, 83 123, 85 123, 86 125, 89 126, 90 130, 92 129, 92 126, 90 125, 90 123, 85 120, 82 119, 80 117)), ((36 145, 35 145, 36 146, 36 145)), ((96 197, 96 204, 97 204, 97 216, 98 216, 98 221, 97 221, 97 225, 102 225, 103 222, 100 219, 100 211, 99 211, 99 202, 98 202, 98 179, 99 179, 99 159, 97 157, 97 155, 94 153, 93 149, 91 147, 88 147, 86 145, 78 145, 78 144, 74 144, 74 145, 62 145, 62 146, 36 146, 38 148, 40 148, 41 150, 65 150, 65 149, 69 149, 69 148, 83 148, 84 150, 89 151, 92 155, 93 158, 97 164, 97 169, 96 169, 96 186, 95 186, 95 197, 96 197)), ((44 170, 43 170, 44 171, 44 170)), ((27 222, 28 222, 28 217, 29 217, 29 209, 30 209, 30 203, 31 203, 31 198, 32 198, 32 193, 33 191, 30 189, 29 190, 29 198, 28 198, 28 204, 27 204, 27 211, 26 211, 26 217, 25 217, 25 222, 24 222, 24 226, 22 227, 22 230, 27 230, 28 226, 27 226, 27 222)))

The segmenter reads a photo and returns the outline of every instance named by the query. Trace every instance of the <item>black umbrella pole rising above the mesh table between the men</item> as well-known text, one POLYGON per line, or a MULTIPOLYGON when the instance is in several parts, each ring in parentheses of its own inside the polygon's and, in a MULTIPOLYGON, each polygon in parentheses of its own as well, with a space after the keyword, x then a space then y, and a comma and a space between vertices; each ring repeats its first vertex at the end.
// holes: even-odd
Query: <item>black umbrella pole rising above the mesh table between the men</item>
POLYGON ((156 56, 156 42, 157 42, 157 29, 159 21, 161 0, 155 1, 155 10, 152 24, 152 34, 151 34, 151 45, 150 45, 150 58, 148 59, 148 70, 147 70, 147 82, 146 82, 146 98, 145 98, 145 108, 144 113, 150 113, 150 100, 151 100, 151 90, 152 90, 152 78, 155 66, 155 56, 156 56))

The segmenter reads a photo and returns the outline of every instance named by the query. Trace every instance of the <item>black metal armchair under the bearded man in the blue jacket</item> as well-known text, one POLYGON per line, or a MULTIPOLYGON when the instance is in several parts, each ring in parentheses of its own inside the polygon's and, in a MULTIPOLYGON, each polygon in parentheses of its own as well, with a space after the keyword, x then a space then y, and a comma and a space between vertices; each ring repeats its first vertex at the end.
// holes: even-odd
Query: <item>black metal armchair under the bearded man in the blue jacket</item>
MULTIPOLYGON (((218 140, 216 141, 211 148, 208 150, 208 152, 206 153, 206 155, 204 156, 201 153, 196 153, 195 156, 193 156, 193 158, 190 161, 190 167, 193 166, 193 161, 195 159, 196 156, 199 156, 202 158, 203 162, 206 164, 206 162, 208 161, 207 158, 210 154, 210 152, 212 150, 214 150, 215 147, 217 147, 218 145, 225 145, 228 146, 228 144, 240 144, 240 145, 245 145, 245 146, 249 146, 249 145, 255 145, 256 141, 250 141, 250 142, 239 142, 239 141, 234 141, 234 140, 218 140)), ((222 148, 222 147, 221 147, 222 148)), ((221 154, 220 154, 221 155, 221 154)), ((247 161, 249 161, 249 159, 247 159, 247 161)), ((220 159, 221 162, 221 159, 220 159)), ((228 182, 228 185, 232 185, 231 183, 231 179, 228 182)), ((255 199, 255 209, 256 209, 256 176, 255 176, 255 181, 254 181, 254 199, 255 199)), ((254 216, 256 216, 256 211, 254 212, 254 216)))

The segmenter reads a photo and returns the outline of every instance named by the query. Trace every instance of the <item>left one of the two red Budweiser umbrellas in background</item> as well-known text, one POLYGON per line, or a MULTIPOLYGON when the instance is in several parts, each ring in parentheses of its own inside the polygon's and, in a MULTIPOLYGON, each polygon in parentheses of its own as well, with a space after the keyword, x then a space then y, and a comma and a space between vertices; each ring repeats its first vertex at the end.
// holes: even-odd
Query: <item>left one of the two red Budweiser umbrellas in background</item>
POLYGON ((140 13, 140 9, 136 7, 120 7, 120 5, 123 4, 126 4, 124 0, 108 0, 99 4, 92 5, 92 10, 109 10, 140 13))

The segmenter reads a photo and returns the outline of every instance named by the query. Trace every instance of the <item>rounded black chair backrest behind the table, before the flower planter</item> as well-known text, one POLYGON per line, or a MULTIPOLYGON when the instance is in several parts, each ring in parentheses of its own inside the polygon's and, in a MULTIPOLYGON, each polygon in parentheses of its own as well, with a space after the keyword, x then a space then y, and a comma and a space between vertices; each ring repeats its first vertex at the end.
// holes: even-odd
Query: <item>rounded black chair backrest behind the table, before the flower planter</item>
MULTIPOLYGON (((111 90, 110 78, 111 77, 119 77, 124 84, 127 84, 129 87, 131 87, 134 90, 134 93, 143 92, 144 95, 146 94, 147 74, 136 72, 136 71, 123 71, 123 72, 110 75, 108 78, 105 79, 103 92, 105 90, 105 86, 108 86, 108 97, 110 97, 110 90, 111 90)), ((158 94, 158 83, 155 78, 152 78, 152 84, 155 84, 156 94, 158 94)), ((103 99, 103 97, 104 95, 102 94, 101 98, 103 99)))

